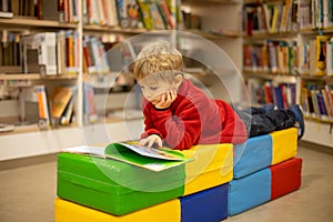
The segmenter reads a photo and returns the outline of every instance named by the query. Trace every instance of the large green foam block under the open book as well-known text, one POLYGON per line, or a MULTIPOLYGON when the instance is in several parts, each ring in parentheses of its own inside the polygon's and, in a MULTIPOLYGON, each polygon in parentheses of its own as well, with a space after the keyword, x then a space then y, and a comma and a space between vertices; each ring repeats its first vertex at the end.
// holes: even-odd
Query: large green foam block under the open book
POLYGON ((59 198, 123 215, 184 193, 184 165, 159 173, 82 154, 58 154, 59 198))

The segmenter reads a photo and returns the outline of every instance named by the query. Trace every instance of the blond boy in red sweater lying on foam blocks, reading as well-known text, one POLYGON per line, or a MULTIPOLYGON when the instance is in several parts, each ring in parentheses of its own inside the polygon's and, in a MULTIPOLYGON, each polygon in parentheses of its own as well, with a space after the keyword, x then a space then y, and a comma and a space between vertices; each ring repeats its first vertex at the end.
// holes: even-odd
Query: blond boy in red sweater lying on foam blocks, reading
MULTIPOLYGON (((246 125, 239 114, 226 102, 208 98, 184 79, 183 71, 182 54, 169 42, 148 44, 139 53, 134 77, 142 89, 145 118, 139 144, 186 150, 194 144, 245 142, 246 125)), ((243 117, 249 118, 246 112, 243 117)), ((290 127, 290 122, 295 123, 292 111, 283 118, 272 124, 283 129, 290 127)), ((269 129, 270 132, 273 130, 269 129)))

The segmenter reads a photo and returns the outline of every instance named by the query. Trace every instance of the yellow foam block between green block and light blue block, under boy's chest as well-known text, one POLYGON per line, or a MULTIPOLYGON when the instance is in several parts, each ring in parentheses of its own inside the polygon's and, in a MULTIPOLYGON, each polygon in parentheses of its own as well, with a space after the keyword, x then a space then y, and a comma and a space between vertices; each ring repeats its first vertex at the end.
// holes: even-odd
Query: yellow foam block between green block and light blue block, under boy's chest
POLYGON ((201 144, 182 152, 185 157, 194 159, 185 165, 184 195, 221 185, 232 180, 232 144, 201 144))

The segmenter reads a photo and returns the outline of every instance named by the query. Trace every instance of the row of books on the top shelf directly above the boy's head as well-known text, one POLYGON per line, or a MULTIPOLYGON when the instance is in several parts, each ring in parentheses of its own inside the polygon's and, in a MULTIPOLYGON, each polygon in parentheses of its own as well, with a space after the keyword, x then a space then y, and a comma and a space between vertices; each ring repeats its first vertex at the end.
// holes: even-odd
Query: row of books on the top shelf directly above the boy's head
POLYGON ((174 29, 175 0, 84 0, 84 23, 122 28, 174 29))

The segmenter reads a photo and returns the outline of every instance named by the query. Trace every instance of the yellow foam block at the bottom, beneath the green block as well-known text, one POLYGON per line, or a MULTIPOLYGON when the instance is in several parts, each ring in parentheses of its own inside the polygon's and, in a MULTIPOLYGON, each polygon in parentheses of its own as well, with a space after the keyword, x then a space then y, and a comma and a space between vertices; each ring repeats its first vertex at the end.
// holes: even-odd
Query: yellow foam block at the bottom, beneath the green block
POLYGON ((54 216, 56 222, 169 222, 181 220, 181 206, 179 199, 174 199, 130 214, 117 216, 57 198, 54 201, 54 216))

